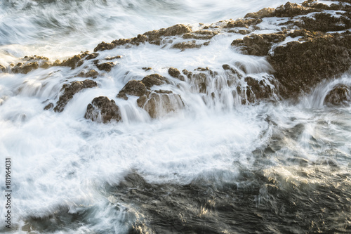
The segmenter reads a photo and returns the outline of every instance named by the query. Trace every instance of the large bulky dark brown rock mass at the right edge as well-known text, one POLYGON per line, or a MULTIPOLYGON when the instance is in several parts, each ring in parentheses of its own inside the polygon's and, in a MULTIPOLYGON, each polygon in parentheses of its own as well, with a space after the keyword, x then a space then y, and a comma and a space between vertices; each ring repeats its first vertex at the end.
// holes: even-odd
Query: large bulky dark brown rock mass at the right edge
POLYGON ((278 46, 268 60, 274 76, 286 88, 284 98, 310 89, 322 79, 346 72, 351 65, 351 34, 327 34, 278 46))

